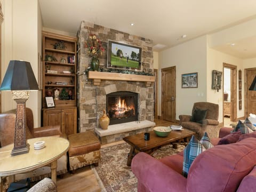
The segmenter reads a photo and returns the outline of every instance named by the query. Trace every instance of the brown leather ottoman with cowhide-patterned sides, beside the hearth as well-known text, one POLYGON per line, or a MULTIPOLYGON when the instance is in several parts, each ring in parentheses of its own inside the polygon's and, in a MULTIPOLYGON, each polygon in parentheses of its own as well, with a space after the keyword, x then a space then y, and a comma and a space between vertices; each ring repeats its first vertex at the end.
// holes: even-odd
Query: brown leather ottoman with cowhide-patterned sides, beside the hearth
POLYGON ((91 131, 68 135, 70 148, 69 170, 95 164, 100 161, 100 141, 91 131))

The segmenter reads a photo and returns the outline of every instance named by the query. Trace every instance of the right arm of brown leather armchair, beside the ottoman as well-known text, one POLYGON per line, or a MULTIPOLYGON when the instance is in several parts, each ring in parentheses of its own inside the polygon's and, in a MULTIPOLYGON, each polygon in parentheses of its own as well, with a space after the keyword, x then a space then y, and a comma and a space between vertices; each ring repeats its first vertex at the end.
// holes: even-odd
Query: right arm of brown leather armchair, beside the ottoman
POLYGON ((60 125, 43 126, 34 129, 34 137, 49 137, 61 134, 60 125))

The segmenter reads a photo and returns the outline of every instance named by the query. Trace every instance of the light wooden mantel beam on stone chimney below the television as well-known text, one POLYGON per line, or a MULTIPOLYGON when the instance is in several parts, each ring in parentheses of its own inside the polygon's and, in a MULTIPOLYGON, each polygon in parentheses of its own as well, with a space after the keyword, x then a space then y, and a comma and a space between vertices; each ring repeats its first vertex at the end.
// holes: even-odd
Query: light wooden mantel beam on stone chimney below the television
POLYGON ((108 73, 99 71, 89 71, 88 78, 94 80, 94 85, 99 85, 101 80, 147 82, 147 86, 150 86, 152 82, 155 82, 154 76, 108 73))

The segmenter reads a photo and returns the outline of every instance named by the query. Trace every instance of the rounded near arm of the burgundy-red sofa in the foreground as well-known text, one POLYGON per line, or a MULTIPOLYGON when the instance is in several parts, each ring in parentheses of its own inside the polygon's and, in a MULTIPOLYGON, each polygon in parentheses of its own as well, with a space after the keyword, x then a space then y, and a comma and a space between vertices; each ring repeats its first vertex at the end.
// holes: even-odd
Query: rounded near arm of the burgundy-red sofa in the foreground
POLYGON ((132 159, 132 172, 148 191, 187 191, 187 179, 146 153, 132 159))

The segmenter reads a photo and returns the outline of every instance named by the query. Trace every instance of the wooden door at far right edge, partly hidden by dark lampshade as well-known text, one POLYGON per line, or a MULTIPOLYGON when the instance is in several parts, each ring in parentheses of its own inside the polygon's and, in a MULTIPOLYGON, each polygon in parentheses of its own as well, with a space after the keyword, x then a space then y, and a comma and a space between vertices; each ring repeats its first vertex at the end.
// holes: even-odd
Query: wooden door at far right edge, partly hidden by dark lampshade
POLYGON ((246 79, 245 79, 245 93, 247 92, 247 97, 245 106, 245 117, 248 117, 251 114, 256 114, 256 91, 249 91, 249 87, 252 84, 254 77, 256 76, 256 68, 246 69, 246 79))

